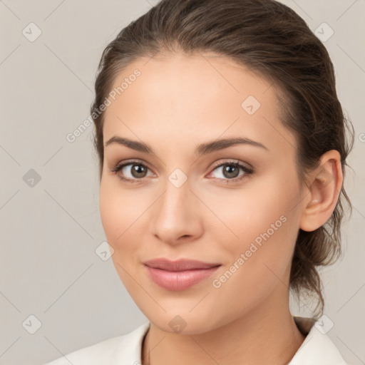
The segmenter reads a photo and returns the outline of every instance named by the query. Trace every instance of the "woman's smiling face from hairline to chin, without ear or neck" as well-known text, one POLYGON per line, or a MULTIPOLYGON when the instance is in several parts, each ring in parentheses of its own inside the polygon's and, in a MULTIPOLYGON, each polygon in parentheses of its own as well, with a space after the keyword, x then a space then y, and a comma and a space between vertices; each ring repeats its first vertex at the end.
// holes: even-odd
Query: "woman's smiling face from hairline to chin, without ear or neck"
POLYGON ((123 82, 105 112, 100 209, 135 303, 190 334, 286 308, 304 201, 274 86, 227 58, 181 53, 140 58, 123 82))

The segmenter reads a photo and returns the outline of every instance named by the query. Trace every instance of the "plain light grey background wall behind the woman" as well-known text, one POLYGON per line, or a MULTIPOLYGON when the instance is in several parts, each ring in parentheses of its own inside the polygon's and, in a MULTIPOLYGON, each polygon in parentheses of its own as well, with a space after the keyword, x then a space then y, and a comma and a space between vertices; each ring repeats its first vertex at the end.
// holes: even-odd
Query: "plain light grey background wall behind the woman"
MULTIPOLYGON (((66 135, 89 116, 106 44, 155 2, 0 0, 1 364, 43 364, 147 321, 111 259, 95 252, 106 238, 93 126, 73 143, 66 135), (22 34, 36 35, 31 22, 41 29, 35 41, 22 34), (31 314, 41 322, 34 334, 31 314)), ((323 22, 334 30, 324 43, 356 130, 345 183, 354 214, 343 227, 344 259, 323 272, 324 313, 345 359, 365 364, 365 1, 283 2, 312 31, 323 22)))

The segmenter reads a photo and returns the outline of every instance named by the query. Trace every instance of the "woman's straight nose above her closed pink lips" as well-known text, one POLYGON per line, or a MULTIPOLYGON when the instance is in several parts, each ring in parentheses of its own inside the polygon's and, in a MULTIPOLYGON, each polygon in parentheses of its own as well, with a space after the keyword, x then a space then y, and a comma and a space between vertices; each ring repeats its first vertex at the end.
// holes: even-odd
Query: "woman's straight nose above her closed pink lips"
POLYGON ((150 232, 168 245, 196 240, 202 235, 199 202, 189 180, 180 187, 167 180, 164 192, 151 207, 150 232))

